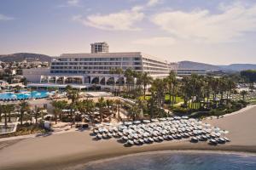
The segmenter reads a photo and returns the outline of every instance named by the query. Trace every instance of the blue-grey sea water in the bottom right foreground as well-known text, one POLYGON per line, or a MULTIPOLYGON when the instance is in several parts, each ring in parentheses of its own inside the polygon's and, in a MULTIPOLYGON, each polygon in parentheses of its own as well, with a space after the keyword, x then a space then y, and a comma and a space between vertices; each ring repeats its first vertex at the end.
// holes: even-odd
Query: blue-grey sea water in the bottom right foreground
POLYGON ((149 153, 90 162, 83 170, 255 170, 255 155, 221 153, 149 153))

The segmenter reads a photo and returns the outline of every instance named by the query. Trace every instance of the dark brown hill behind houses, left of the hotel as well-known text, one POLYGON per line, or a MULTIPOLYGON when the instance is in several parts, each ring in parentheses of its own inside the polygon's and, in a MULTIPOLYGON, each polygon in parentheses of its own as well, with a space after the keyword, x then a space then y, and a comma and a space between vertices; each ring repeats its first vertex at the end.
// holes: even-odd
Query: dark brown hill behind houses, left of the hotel
POLYGON ((30 54, 30 53, 18 53, 18 54, 6 54, 6 55, 0 54, 0 61, 3 61, 3 62, 11 62, 11 61, 21 62, 25 59, 27 61, 50 61, 51 57, 44 54, 30 54))

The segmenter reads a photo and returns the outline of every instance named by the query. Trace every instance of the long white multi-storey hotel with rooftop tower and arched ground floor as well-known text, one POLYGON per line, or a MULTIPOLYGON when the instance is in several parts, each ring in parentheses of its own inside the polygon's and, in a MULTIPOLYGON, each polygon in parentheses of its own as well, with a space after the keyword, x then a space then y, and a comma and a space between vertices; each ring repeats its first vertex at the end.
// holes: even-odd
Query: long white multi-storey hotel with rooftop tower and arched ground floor
POLYGON ((61 54, 52 59, 48 70, 29 69, 24 70, 23 75, 29 82, 33 82, 30 86, 35 87, 64 88, 67 84, 72 84, 79 88, 113 88, 114 85, 125 85, 126 81, 123 75, 111 74, 111 69, 120 68, 125 71, 130 68, 148 72, 151 77, 166 77, 170 71, 167 61, 148 54, 108 53, 106 42, 90 45, 90 54, 61 54))

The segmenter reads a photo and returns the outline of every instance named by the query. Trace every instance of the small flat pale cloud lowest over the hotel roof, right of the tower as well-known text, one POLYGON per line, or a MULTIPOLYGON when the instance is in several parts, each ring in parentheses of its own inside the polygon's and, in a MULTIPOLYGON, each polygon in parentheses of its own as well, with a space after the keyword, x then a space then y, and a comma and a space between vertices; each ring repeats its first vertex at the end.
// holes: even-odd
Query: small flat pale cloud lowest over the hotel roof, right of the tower
POLYGON ((149 38, 137 39, 132 43, 140 44, 140 45, 148 45, 148 46, 166 47, 166 46, 173 45, 175 42, 176 40, 173 37, 149 37, 149 38))

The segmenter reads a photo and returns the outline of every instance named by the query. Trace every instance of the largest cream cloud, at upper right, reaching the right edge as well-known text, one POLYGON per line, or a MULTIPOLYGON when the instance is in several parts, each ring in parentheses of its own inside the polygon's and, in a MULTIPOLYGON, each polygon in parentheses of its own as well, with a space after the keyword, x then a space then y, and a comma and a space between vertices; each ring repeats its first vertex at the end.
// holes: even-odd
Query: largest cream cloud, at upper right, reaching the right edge
POLYGON ((197 42, 233 42, 256 31, 256 5, 234 3, 219 9, 219 14, 211 14, 207 9, 166 11, 154 14, 151 21, 173 37, 197 42))

